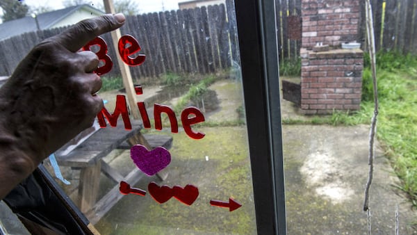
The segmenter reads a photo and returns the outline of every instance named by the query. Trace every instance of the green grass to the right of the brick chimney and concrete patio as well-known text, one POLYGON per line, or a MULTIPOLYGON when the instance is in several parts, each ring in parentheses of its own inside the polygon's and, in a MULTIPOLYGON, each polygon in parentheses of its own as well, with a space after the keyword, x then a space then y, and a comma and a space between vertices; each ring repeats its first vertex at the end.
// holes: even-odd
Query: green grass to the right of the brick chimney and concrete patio
MULTIPOLYGON (((373 111, 372 80, 366 57, 363 72, 363 110, 373 111)), ((377 54, 379 115, 377 138, 391 158, 401 183, 397 186, 409 195, 417 207, 417 56, 395 52, 377 54)), ((350 118, 355 118, 352 115, 350 118)))

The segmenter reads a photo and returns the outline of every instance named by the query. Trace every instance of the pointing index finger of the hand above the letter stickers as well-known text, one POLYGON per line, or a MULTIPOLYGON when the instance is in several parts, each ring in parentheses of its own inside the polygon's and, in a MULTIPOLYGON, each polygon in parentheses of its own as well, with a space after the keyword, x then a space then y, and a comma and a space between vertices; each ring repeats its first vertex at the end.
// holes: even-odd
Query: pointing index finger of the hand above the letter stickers
POLYGON ((121 13, 84 19, 63 33, 54 36, 51 40, 62 44, 72 52, 76 52, 98 35, 120 28, 125 20, 126 18, 121 13))

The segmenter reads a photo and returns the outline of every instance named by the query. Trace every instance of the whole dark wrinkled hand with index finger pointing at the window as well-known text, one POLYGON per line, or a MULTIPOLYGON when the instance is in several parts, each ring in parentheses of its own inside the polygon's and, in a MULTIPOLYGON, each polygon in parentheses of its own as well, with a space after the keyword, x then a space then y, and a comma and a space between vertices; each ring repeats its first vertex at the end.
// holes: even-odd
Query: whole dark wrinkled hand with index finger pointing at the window
MULTIPOLYGON (((79 49, 122 24, 123 15, 104 15, 44 40, 1 87, 0 148, 22 153, 14 155, 22 155, 19 163, 31 168, 24 172, 26 177, 45 157, 91 127, 103 106, 96 95, 101 79, 93 72, 99 60, 79 49)), ((0 156, 0 167, 4 159, 0 156)))

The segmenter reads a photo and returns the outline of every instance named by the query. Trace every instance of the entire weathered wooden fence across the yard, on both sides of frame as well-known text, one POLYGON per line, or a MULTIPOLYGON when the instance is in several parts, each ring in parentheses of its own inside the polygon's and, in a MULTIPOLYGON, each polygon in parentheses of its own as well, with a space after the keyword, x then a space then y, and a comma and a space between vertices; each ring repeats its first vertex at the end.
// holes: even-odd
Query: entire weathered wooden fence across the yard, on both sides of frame
MULTIPOLYGON (((300 55, 301 40, 291 39, 297 38, 291 36, 294 35, 291 30, 294 29, 293 19, 301 16, 301 1, 275 0, 280 60, 300 55)), ((417 54, 417 0, 371 2, 377 49, 417 54)), ((127 17, 122 34, 131 34, 138 39, 142 47, 140 52, 147 56, 143 65, 131 67, 133 79, 152 79, 166 72, 206 74, 227 69, 232 63, 239 64, 234 3, 227 0, 226 5, 127 17)), ((364 19, 364 13, 362 17, 364 19)), ((361 20, 361 23, 358 39, 364 41, 365 21, 361 20)), ((35 44, 60 31, 63 29, 25 33, 1 41, 0 76, 10 75, 35 44)), ((115 61, 118 54, 111 47, 110 35, 103 38, 109 45, 108 54, 115 61)), ((109 75, 118 74, 118 65, 114 63, 109 75)))

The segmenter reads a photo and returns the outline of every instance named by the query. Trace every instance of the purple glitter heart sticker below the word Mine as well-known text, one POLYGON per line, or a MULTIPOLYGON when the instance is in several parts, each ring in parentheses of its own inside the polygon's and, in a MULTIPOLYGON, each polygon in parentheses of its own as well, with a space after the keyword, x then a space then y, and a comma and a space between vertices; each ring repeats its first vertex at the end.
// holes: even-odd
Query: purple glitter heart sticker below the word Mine
POLYGON ((152 151, 148 151, 143 145, 133 145, 131 159, 142 172, 152 176, 170 164, 171 154, 164 147, 156 147, 152 151))

